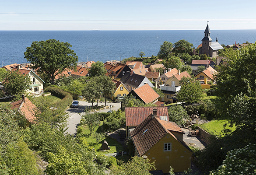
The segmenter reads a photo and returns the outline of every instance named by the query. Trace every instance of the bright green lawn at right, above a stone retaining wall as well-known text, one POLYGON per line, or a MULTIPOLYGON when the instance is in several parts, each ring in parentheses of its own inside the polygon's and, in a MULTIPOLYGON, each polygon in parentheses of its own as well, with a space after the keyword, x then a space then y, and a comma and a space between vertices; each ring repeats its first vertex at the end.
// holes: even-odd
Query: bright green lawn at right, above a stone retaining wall
MULTIPOLYGON (((212 120, 209 123, 203 123, 199 125, 203 130, 206 130, 208 133, 213 134, 215 136, 224 137, 222 130, 224 129, 224 124, 228 123, 228 120, 212 120)), ((231 131, 235 130, 235 126, 232 128, 226 126, 225 129, 230 129, 231 131)))

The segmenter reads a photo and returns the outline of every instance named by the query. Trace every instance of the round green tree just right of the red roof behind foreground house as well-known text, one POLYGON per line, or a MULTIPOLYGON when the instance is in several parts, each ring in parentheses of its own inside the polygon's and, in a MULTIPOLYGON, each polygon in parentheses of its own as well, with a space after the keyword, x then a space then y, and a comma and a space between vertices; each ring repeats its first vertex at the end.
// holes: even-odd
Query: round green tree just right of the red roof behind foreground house
POLYGON ((175 122, 179 126, 184 126, 189 115, 181 105, 172 105, 168 109, 169 120, 175 122))

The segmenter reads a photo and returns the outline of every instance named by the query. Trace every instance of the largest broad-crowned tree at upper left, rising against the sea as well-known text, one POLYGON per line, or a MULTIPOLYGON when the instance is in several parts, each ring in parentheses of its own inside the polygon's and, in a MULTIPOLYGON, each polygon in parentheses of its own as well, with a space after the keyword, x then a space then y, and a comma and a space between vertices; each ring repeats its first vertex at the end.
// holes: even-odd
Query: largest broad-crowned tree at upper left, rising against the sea
MULTIPOLYGON (((48 39, 46 41, 34 41, 31 47, 24 52, 25 59, 30 61, 31 67, 39 74, 46 74, 50 82, 54 84, 55 76, 65 69, 76 69, 78 57, 71 50, 67 42, 48 39)), ((47 82, 47 81, 46 81, 47 82)))

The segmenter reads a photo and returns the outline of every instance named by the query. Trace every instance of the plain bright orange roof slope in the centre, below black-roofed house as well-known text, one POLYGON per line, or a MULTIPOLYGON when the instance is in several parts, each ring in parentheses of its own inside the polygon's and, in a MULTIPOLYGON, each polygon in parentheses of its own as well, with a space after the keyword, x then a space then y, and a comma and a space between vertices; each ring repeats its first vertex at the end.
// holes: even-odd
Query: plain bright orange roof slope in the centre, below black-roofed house
POLYGON ((143 86, 133 90, 144 103, 151 103, 160 96, 148 85, 143 86))

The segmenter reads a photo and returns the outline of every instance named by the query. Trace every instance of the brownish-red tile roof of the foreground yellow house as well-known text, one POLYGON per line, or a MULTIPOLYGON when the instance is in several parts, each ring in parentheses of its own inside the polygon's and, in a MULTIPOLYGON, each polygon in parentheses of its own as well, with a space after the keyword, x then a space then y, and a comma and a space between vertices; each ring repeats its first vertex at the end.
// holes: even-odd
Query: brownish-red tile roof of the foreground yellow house
MULTIPOLYGON (((169 129, 180 132, 179 126, 175 126, 175 123, 168 125, 169 129), (171 126, 175 126, 171 128, 171 126), (178 129, 178 128, 179 129, 178 129)), ((133 140, 138 154, 141 156, 145 154, 151 147, 153 147, 161 138, 166 134, 170 134, 175 140, 179 141, 164 125, 162 120, 157 117, 148 116, 139 126, 130 132, 130 136, 133 140)), ((180 142, 180 141, 179 141, 180 142)), ((180 142, 181 144, 185 144, 180 142)))

